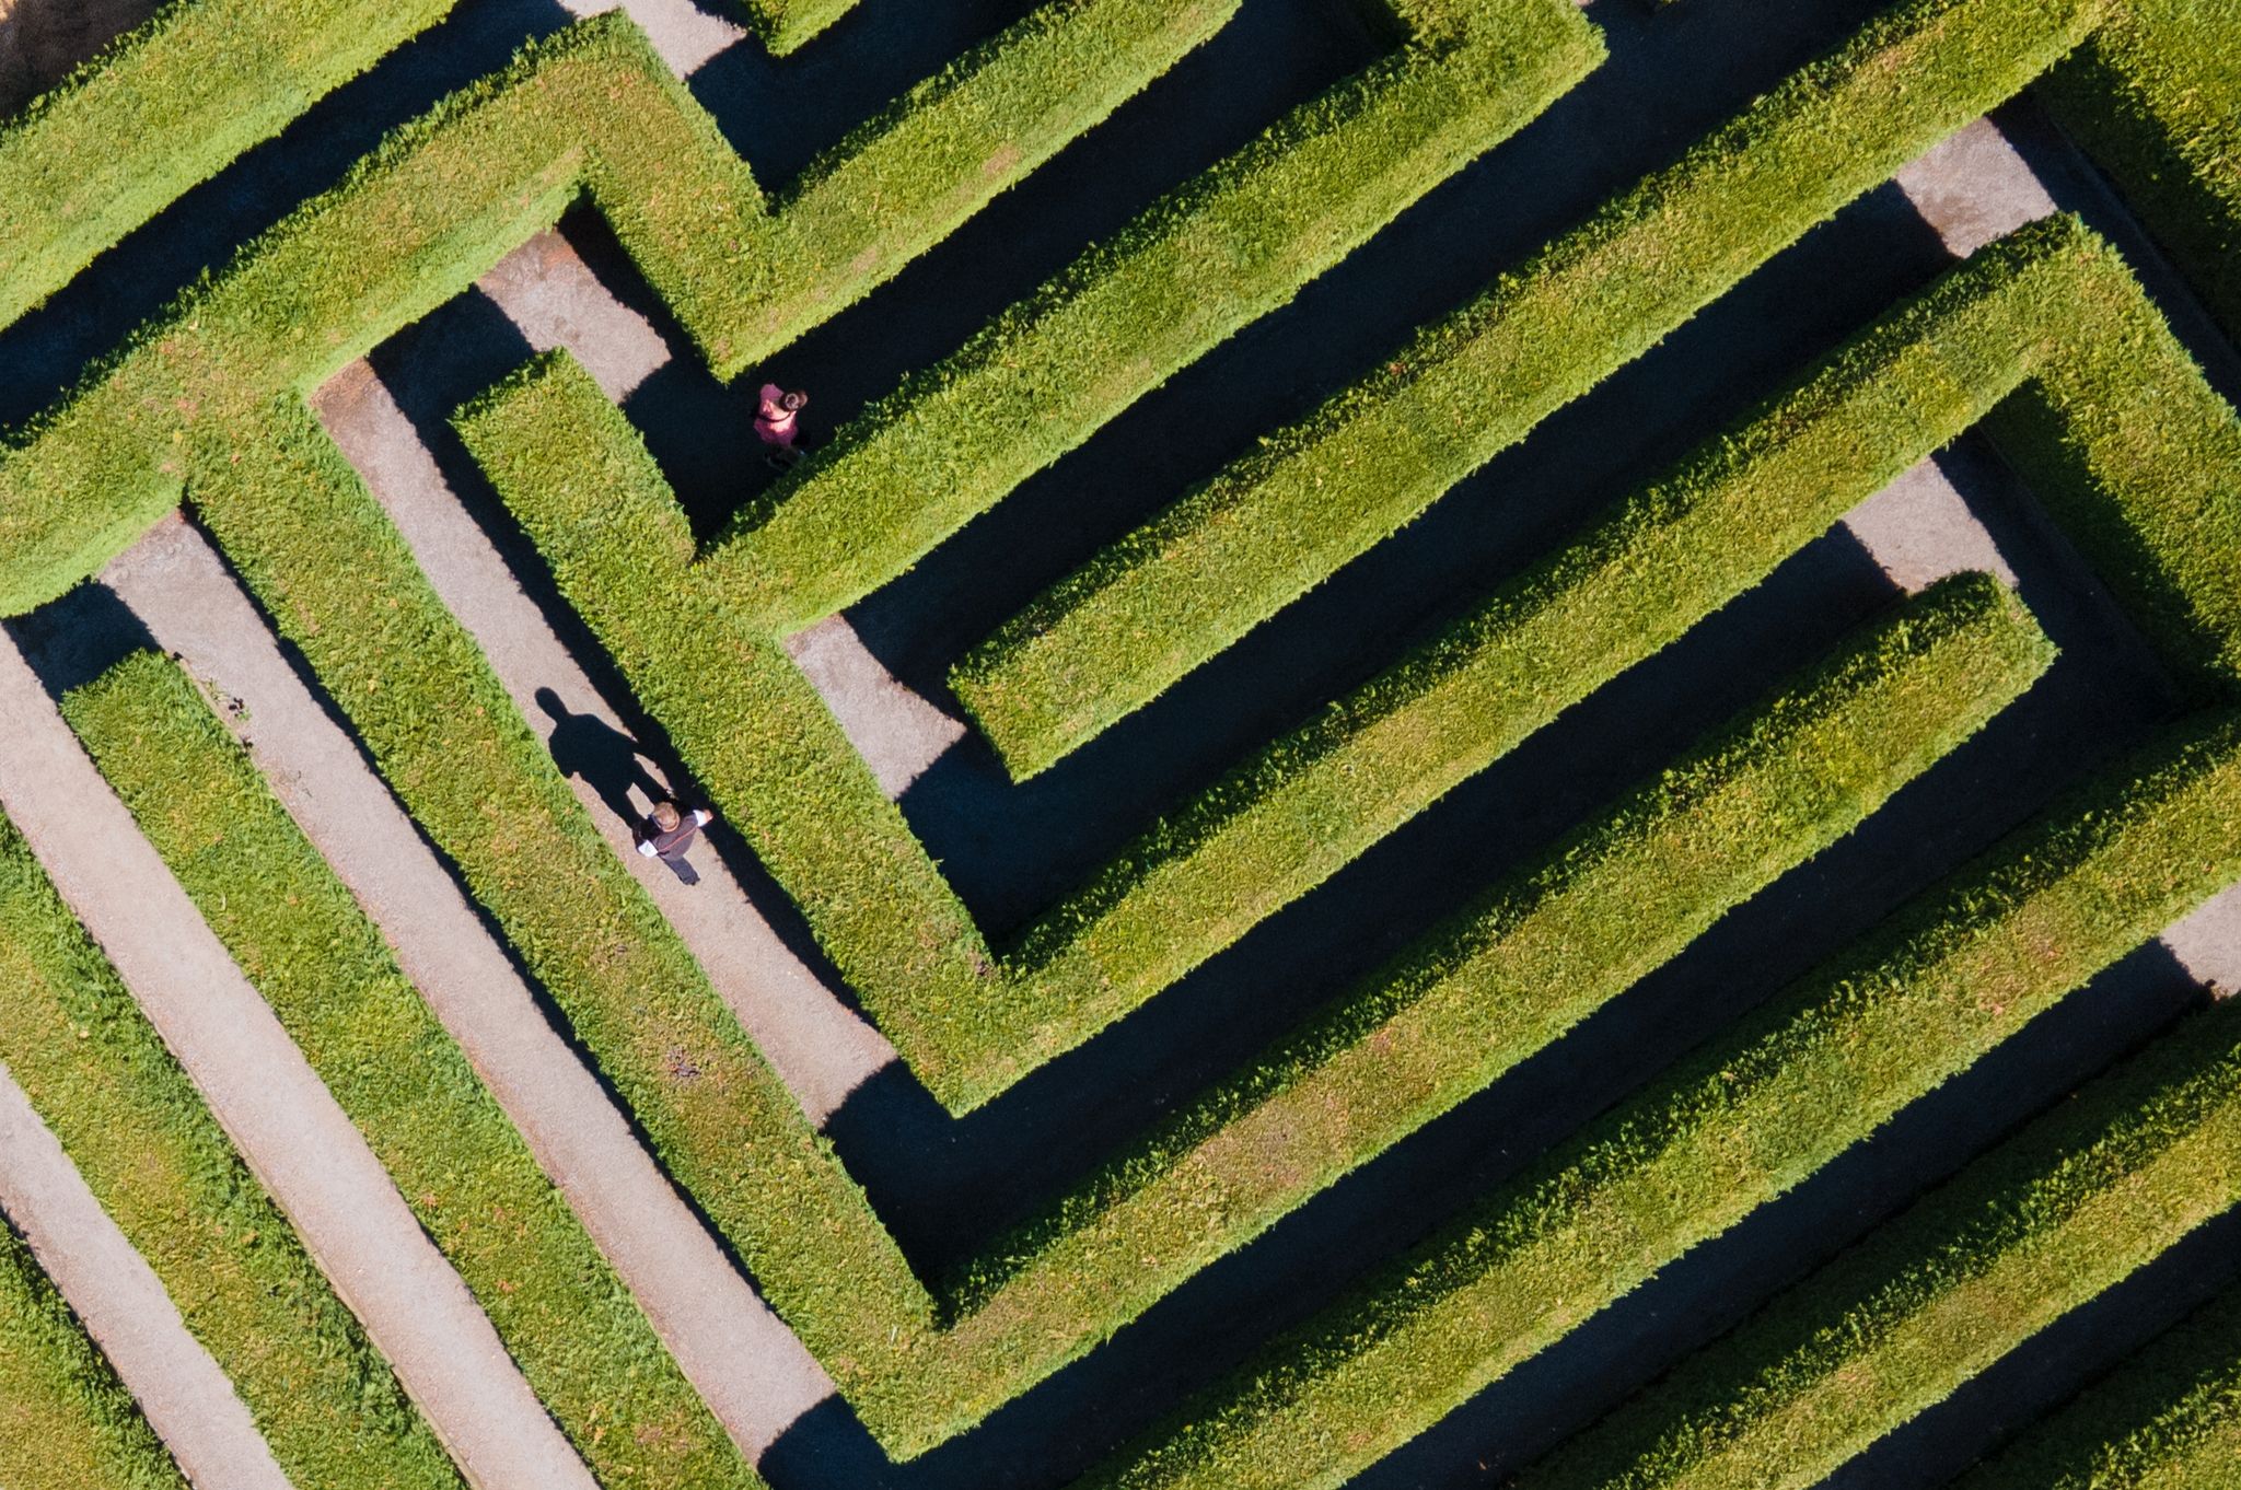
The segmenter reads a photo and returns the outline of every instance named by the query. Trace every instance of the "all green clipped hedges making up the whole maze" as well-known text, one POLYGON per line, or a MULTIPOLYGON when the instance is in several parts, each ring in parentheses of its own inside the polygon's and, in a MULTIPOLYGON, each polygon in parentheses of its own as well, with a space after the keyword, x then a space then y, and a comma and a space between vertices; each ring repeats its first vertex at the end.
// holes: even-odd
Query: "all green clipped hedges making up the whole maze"
MULTIPOLYGON (((108 246, 188 211, 260 141, 318 128, 320 99, 379 83, 408 40, 444 47, 477 4, 498 0, 164 9, 0 121, 0 329, 36 338, 40 300, 99 282, 108 246)), ((2241 4, 1817 7, 1820 45, 1777 83, 1708 87, 1723 123, 1672 139, 1638 179, 1598 175, 1600 206, 1540 249, 1468 264, 1468 298, 1396 320, 1385 352, 1338 379, 1302 379, 1291 415, 1237 428, 1185 488, 1143 491, 1112 533, 1049 518, 1080 529, 1073 558, 986 576, 1008 618, 932 668, 896 668, 970 724, 955 769, 1006 802, 1080 793, 1159 730, 1192 733, 1210 674, 1300 625, 1403 529, 1540 495, 1504 486, 1510 453, 1580 439, 1569 421, 1600 392, 1665 376, 1672 338, 1988 114, 2017 134, 2037 121, 2066 179, 2091 181, 1880 314, 1795 338, 1779 376, 1739 379, 1717 419, 1663 430, 1551 542, 1425 596, 1428 618, 1389 645, 1371 636, 1374 668, 1311 670, 1313 708, 1286 706, 1217 769, 1170 771, 1118 840, 1085 813, 1096 867, 1053 881, 1017 925, 959 887, 921 789, 881 786, 829 679, 789 650, 861 618, 997 509, 1053 506, 1053 484, 1138 437, 1147 410, 1190 417, 1161 403, 1172 381, 1324 314, 1320 285, 1459 211, 1488 161, 1533 150, 1535 130, 1587 128, 1566 110, 1627 49, 1656 56, 1692 16, 1732 11, 1627 4, 984 7, 984 40, 843 121, 778 188, 742 155, 755 125, 663 60, 661 7, 542 25, 0 437, 0 663, 38 679, 38 697, 7 695, 0 751, 74 742, 99 769, 388 1176, 394 1194, 365 1203, 410 1212, 583 1483, 816 1490, 870 1483, 863 1461, 896 1486, 1804 1488, 1912 1432, 1961 1445, 1947 1474, 1965 1468, 1954 1483, 1972 1490, 2234 1479, 2234 1277, 2156 1284, 2178 1304, 2140 1315, 2129 1358, 2077 1360, 2057 1382, 2075 1400, 1977 1425, 1952 1400, 2001 1389, 2001 1362, 2167 1279, 2198 1257, 2189 1239, 2241 1214, 2232 1011, 2174 1019, 2167 999, 2154 1017, 2109 1013, 2133 1019, 2109 1035, 2075 1024, 2118 1008, 2111 981, 2241 883, 2241 4), (666 394, 619 403, 580 341, 509 350, 502 376, 417 430, 441 479, 480 493, 509 583, 621 695, 648 760, 717 811, 697 851, 726 874, 686 892, 619 854, 614 804, 589 804, 524 717, 509 639, 439 596, 437 556, 323 423, 320 390, 379 376, 401 332, 562 224, 612 249, 612 264, 587 258, 744 423, 766 370, 939 298, 957 273, 946 244, 1109 132, 1183 108, 1177 78, 1277 11, 1338 27, 1358 65, 1056 273, 1004 285, 1013 302, 948 356, 861 408, 818 403, 829 435, 775 479, 742 473, 713 527, 688 515, 648 428, 666 394), (2003 556, 2035 544, 2039 569, 1947 565, 1961 571, 1914 594, 1878 578, 1831 645, 1690 683, 1735 699, 1699 710, 1705 724, 1629 719, 1620 733, 1643 742, 1614 755, 1627 784, 1560 831, 1452 856, 1468 872, 1398 863, 1423 851, 1423 825, 1546 755, 1956 441, 2021 493, 2021 515, 1988 527, 2003 556), (643 1264, 614 1252, 601 1176, 562 1172, 520 1075, 406 972, 435 932, 383 919, 329 863, 305 811, 325 786, 273 766, 258 701, 233 699, 217 661, 150 648, 155 616, 92 634, 103 605, 130 609, 112 565, 150 553, 143 536, 175 513, 533 990, 524 1017, 560 1031, 715 1266, 751 1279, 798 1351, 742 1340, 710 1365, 679 1347, 643 1264), (2008 802, 1990 784, 1999 753, 2044 728, 2028 710, 2080 614, 2131 648, 2165 717, 2095 724, 2107 748, 2059 762, 2048 789, 1974 804, 2008 802), (1952 831, 1923 802, 1945 802, 1952 831), (1829 887, 1808 890, 1813 874, 1829 887), (1210 968, 1253 970, 1255 948, 1371 876, 1439 887, 1405 925, 1349 928, 1358 966, 1271 988, 1304 1013, 1253 1026, 1253 1053, 1208 1067, 1177 1051, 1183 1075, 1156 1100, 1103 1089, 1125 1082, 1100 1075, 1116 1037, 1199 997, 1210 968), (1087 1091, 1064 1111, 1109 1105, 1127 1132, 1051 1125, 1035 1143, 1080 1149, 1056 1181, 921 1246, 861 1138, 811 1116, 757 1049, 672 894, 744 896, 766 916, 818 997, 892 1044, 878 1080, 923 1098, 943 1143, 1035 1125, 1058 1084, 1087 1091), (1782 925, 1795 903, 1811 921, 1847 898, 1896 910, 1858 937, 1797 932, 1797 975, 1759 988, 1735 961, 1755 954, 1719 961, 1752 916, 1782 925), (1694 1024, 1636 1013, 1661 979, 1692 988, 1690 968, 1694 1024), (1656 1049, 1553 1140, 1497 1132, 1490 1102, 1593 1064, 1611 1028, 1656 1049), (2035 1091, 2012 1071, 2048 1040, 2075 1071, 2035 1091), (1865 1185, 1891 1134, 1956 1089, 1988 1091, 2008 1120, 1930 1145, 1842 1223, 1797 1219, 1865 1185), (1345 1208, 1407 1190, 1425 1154, 1457 1172, 1396 1196, 1396 1219, 1367 1228, 1376 1248, 1295 1261, 1318 1228, 1324 1252, 1351 1246, 1363 1226, 1345 1208), (1658 1335, 1625 1365, 1580 1356, 1652 1309, 1640 1300, 1784 1226, 1791 1273, 1685 1304, 1692 1338, 1658 1335), (1228 1302, 1226 1279, 1253 1268, 1295 1297, 1228 1302), (1591 1362, 1575 1421, 1493 1425, 1501 1391, 1546 1400, 1531 1394, 1551 1360, 1591 1362), (838 1394, 854 1459, 805 1438, 818 1412, 753 1425, 775 1380, 838 1394), (1085 1391, 1116 1400, 1069 1405, 1085 1391)), ((744 0, 735 49, 778 74, 813 67, 881 9, 896 0, 744 0)), ((1593 128, 1611 128, 1602 108, 1593 128)), ((2015 155, 2055 179, 2042 166, 2015 155)), ((271 1140, 233 1120, 211 1058, 143 1013, 130 959, 81 903, 101 849, 58 831, 69 818, 38 791, 0 764, 7 1082, 287 1483, 515 1483, 446 1430, 457 1405, 428 1398, 441 1376, 397 1358, 394 1315, 287 1203, 271 1140)), ((2178 1002, 2207 1004, 2207 975, 2178 972, 2178 1002)), ((1596 1080, 1582 1089, 1605 1091, 1596 1080)), ((0 1125, 0 1481, 202 1483, 164 1382, 112 1365, 99 1300, 43 1270, 58 1223, 11 1179, 20 1154, 0 1125)))

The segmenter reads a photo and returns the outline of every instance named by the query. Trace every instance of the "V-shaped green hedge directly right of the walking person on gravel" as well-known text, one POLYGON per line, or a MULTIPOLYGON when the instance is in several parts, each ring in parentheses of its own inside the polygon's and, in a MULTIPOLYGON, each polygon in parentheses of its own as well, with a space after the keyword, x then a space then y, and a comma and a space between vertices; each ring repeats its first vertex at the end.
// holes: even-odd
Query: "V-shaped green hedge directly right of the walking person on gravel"
POLYGON ((587 374, 540 358, 459 428, 878 1026, 937 1096, 968 1107, 1304 894, 1981 419, 2051 336, 2044 291, 2080 242, 2057 224, 1954 273, 1432 648, 1174 809, 1002 954, 800 670, 744 641, 731 571, 686 565, 692 540, 659 468, 587 374), (677 578, 650 592, 643 574, 677 578))

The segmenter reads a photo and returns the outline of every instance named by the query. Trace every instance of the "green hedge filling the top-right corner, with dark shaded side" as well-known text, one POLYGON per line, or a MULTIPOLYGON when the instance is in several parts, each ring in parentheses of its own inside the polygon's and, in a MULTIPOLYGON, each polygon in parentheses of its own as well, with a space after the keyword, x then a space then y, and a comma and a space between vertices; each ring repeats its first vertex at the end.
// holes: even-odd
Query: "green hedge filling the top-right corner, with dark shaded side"
POLYGON ((2241 336, 2241 0, 2122 0, 2044 94, 2241 336))

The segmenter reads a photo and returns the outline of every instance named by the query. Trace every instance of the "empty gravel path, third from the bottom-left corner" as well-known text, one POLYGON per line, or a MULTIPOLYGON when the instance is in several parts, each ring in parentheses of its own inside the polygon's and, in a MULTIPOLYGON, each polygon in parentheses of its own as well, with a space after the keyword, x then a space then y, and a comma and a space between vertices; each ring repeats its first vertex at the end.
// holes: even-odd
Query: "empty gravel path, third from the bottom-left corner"
POLYGON ((282 659, 208 542, 168 518, 101 576, 217 692, 273 791, 381 928, 397 963, 748 1456, 834 1387, 677 1196, 598 1080, 350 737, 282 659))

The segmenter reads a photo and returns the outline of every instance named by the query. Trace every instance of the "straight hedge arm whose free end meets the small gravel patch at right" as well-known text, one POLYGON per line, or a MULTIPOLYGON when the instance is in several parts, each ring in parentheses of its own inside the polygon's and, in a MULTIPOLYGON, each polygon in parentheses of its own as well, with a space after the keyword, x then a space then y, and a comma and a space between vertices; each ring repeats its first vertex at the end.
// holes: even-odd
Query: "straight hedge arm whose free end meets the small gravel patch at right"
POLYGON ((943 1367, 1118 1329, 1842 838, 2051 659, 1983 576, 1871 623, 997 1246, 943 1367))

